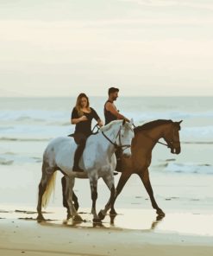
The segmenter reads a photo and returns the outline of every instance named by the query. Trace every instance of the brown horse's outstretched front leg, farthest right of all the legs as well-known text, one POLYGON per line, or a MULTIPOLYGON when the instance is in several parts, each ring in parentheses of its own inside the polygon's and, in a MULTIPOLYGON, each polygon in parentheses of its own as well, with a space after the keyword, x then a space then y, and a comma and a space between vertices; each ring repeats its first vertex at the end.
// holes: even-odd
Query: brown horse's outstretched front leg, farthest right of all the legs
POLYGON ((144 187, 147 190, 147 193, 148 193, 148 195, 150 197, 150 200, 152 202, 152 206, 153 206, 154 209, 156 209, 156 213, 160 216, 165 216, 165 213, 162 211, 161 208, 159 208, 157 202, 154 199, 153 188, 152 188, 151 182, 149 180, 148 169, 146 169, 145 171, 143 171, 142 173, 140 173, 138 175, 140 176, 141 181, 143 182, 144 187))

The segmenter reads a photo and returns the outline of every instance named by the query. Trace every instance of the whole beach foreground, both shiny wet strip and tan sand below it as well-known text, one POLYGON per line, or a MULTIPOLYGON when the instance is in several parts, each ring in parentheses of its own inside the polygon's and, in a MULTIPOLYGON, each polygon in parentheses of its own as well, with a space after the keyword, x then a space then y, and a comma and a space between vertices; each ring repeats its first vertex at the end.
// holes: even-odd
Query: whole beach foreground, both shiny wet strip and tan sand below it
POLYGON ((84 210, 84 222, 65 221, 61 208, 41 222, 29 208, 1 210, 0 255, 213 255, 213 214, 170 211, 157 219, 151 210, 119 208, 97 225, 84 210))

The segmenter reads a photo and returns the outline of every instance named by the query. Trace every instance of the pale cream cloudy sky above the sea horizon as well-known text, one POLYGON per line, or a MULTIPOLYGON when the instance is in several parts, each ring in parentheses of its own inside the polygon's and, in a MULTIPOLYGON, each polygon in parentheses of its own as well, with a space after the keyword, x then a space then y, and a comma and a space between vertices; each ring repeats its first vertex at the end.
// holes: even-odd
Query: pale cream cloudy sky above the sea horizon
POLYGON ((212 0, 0 0, 0 97, 213 96, 212 0))

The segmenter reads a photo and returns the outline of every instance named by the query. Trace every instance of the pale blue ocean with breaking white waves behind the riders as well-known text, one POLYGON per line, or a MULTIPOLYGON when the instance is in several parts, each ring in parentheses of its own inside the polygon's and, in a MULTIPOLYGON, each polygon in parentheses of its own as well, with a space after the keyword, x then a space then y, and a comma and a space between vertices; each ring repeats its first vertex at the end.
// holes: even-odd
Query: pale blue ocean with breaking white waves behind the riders
MULTIPOLYGON (((103 104, 105 98, 91 97, 91 106, 103 118, 103 104)), ((116 106, 128 118, 134 118, 135 125, 142 125, 155 119, 183 120, 181 124, 180 140, 182 148, 191 147, 202 151, 213 144, 213 98, 203 97, 124 97, 117 99, 116 106)), ((0 142, 1 164, 27 163, 32 161, 34 146, 28 151, 25 144, 47 144, 51 138, 66 136, 74 130, 70 124, 72 107, 75 98, 4 98, 0 100, 0 142), (9 148, 3 145, 9 144, 9 148), (20 154, 23 150, 24 154, 20 154)), ((95 125, 95 121, 92 125, 95 125)), ((158 147, 161 147, 158 145, 158 147)), ((194 152, 195 153, 195 152, 194 152)), ((198 167, 199 164, 212 164, 211 154, 196 157, 196 171, 208 172, 208 165, 198 167)), ((181 154, 185 159, 180 171, 191 172, 186 167, 191 157, 181 154)), ((191 154, 192 155, 192 154, 191 154)), ((172 156, 172 155, 171 155, 172 156)), ((182 159, 181 157, 181 159, 182 159)), ((165 157, 163 157, 165 158, 165 157)), ((159 159, 160 160, 160 159, 159 159)), ((161 159, 163 160, 163 159, 161 159)), ((175 169, 172 163, 171 170, 175 169)), ((194 166, 195 167, 195 166, 194 166)), ((168 168, 168 167, 166 167, 168 168)))

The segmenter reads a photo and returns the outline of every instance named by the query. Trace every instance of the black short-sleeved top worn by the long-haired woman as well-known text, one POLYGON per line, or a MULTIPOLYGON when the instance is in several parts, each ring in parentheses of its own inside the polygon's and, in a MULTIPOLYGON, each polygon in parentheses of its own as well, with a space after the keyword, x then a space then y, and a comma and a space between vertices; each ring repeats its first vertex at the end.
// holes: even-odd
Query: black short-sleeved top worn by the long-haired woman
MULTIPOLYGON (((91 121, 93 118, 95 118, 96 120, 100 119, 99 116, 97 115, 97 112, 91 107, 91 112, 87 113, 87 112, 83 112, 84 116, 87 118, 86 121, 82 121, 79 122, 78 124, 76 124, 75 126, 75 133, 83 133, 85 134, 85 136, 90 136, 91 135, 91 121)), ((76 109, 76 107, 74 107, 72 109, 72 119, 74 118, 80 118, 80 116, 78 115, 78 111, 76 109)))

